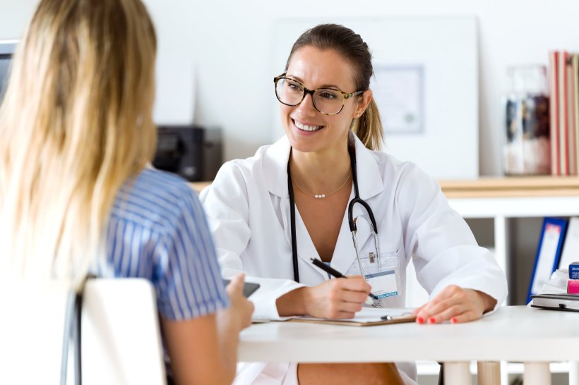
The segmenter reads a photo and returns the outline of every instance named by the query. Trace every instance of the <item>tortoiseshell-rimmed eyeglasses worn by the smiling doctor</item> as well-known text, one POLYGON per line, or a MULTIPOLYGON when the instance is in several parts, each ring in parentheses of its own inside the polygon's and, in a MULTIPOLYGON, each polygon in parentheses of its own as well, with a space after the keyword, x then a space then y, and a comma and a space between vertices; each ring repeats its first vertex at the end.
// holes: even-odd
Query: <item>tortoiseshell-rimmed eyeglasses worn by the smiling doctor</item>
POLYGON ((346 99, 364 92, 356 91, 349 94, 333 88, 308 90, 301 82, 286 78, 285 73, 273 78, 273 82, 275 83, 275 96, 280 103, 286 106, 297 106, 304 101, 306 94, 310 94, 311 100, 314 102, 314 108, 325 115, 340 114, 346 99))

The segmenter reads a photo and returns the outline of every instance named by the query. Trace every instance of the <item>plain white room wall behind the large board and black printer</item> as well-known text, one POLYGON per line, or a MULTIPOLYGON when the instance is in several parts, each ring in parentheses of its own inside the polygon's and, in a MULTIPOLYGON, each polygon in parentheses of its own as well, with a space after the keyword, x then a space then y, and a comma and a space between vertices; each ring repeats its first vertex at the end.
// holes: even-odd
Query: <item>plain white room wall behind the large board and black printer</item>
MULTIPOLYGON (((579 51, 574 0, 146 0, 160 35, 159 118, 221 126, 225 158, 247 157, 270 142, 277 18, 475 15, 479 19, 479 157, 482 175, 501 173, 500 97, 506 66, 547 64, 549 49, 579 51), (169 47, 170 46, 170 47, 169 47), (169 54, 173 51, 174 54, 169 54), (167 56, 165 56, 167 55, 167 56), (172 61, 170 58, 178 58, 172 61), (191 78, 196 92, 182 77, 191 78), (161 102, 162 100, 162 102, 161 102), (177 106, 177 107, 176 107, 177 106), (162 108, 161 108, 162 107, 162 108), (172 109, 177 108, 177 111, 172 109)), ((35 0, 0 0, 0 39, 18 37, 35 0)), ((290 50, 290 47, 287 47, 290 50)), ((165 121, 167 120, 167 121, 165 121)))

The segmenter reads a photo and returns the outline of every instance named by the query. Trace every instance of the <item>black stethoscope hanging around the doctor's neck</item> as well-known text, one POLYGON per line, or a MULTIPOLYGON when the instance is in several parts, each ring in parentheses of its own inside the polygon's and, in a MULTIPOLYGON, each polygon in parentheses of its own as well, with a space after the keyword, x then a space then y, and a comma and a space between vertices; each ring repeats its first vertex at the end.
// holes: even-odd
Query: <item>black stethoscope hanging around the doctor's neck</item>
MULTIPOLYGON (((352 233, 352 241, 354 242, 354 250, 356 251, 356 259, 358 261, 358 265, 360 268, 360 272, 362 276, 366 276, 364 274, 364 269, 362 267, 362 261, 360 258, 360 253, 358 249, 358 241, 356 239, 356 220, 354 218, 354 204, 362 204, 368 216, 370 217, 371 226, 371 234, 374 236, 374 245, 376 246, 376 260, 378 266, 380 264, 380 244, 378 243, 378 226, 376 226, 376 219, 374 219, 374 213, 370 208, 370 205, 366 203, 360 197, 358 191, 358 173, 356 169, 356 150, 354 146, 348 145, 348 154, 350 154, 350 166, 352 167, 352 182, 354 184, 354 198, 350 200, 348 203, 348 224, 350 225, 350 232, 352 233)), ((290 175, 290 161, 287 162, 287 190, 290 193, 290 222, 291 222, 291 232, 292 232, 292 262, 294 267, 294 281, 299 282, 299 269, 297 265, 297 242, 296 242, 296 211, 295 211, 295 200, 294 200, 294 187, 292 185, 292 177, 290 175)))

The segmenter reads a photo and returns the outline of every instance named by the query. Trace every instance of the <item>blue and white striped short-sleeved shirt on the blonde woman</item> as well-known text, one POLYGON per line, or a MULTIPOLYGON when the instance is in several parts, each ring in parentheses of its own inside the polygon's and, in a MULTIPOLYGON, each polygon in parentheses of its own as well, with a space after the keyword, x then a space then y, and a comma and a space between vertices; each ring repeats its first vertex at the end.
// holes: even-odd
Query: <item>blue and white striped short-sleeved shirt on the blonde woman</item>
POLYGON ((117 195, 100 276, 150 280, 167 319, 191 319, 229 305, 213 239, 196 193, 178 176, 143 170, 117 195))

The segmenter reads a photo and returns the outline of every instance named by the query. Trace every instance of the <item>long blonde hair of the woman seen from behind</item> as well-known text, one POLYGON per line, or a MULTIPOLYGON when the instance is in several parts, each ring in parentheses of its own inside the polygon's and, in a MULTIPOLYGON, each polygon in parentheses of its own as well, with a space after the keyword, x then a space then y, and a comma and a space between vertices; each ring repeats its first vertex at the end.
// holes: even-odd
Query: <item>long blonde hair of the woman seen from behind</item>
POLYGON ((140 0, 42 0, 0 106, 0 269, 83 279, 153 157, 156 37, 140 0))

